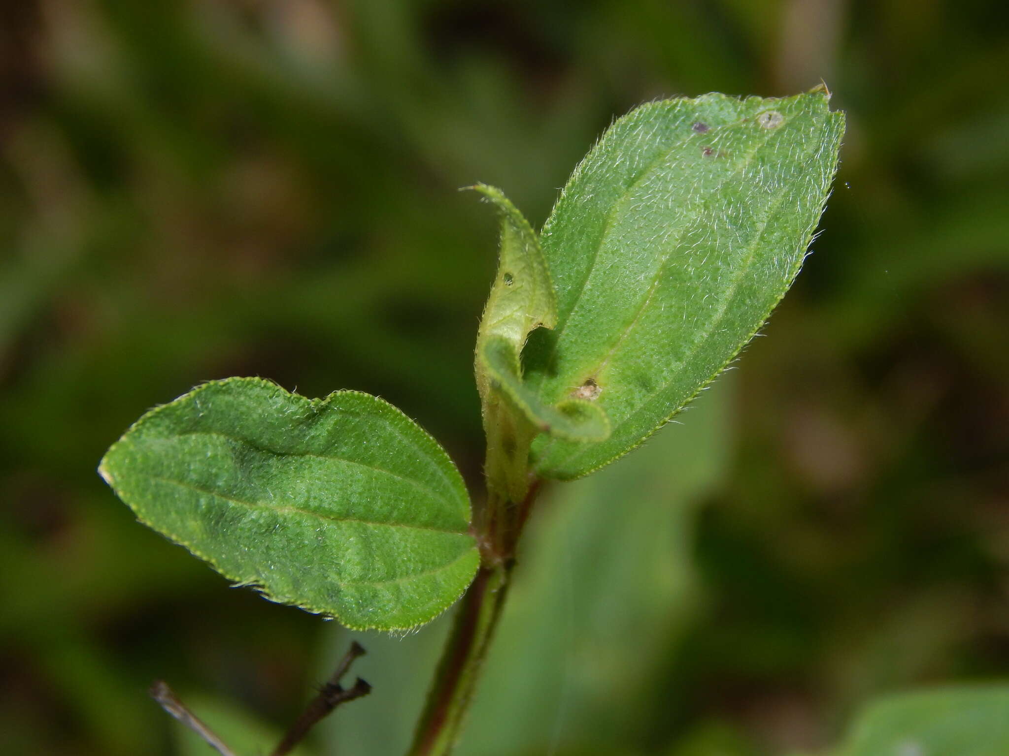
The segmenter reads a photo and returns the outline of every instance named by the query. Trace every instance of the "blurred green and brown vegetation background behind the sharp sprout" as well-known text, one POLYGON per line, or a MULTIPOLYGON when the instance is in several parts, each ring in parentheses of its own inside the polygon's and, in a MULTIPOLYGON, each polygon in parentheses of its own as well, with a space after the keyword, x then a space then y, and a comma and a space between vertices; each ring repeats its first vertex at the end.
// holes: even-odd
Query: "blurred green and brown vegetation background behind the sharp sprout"
MULTIPOLYGON (((495 221, 457 187, 539 225, 635 105, 821 79, 849 125, 814 254, 681 425, 548 491, 459 752, 820 753, 877 694, 1009 678, 1006 20, 994 0, 4 3, 0 751, 204 753, 154 677, 222 731, 275 730, 351 639, 135 523, 95 468, 142 411, 229 375, 356 388, 478 495, 495 221)), ((354 636, 374 692, 312 752, 398 753, 442 625, 354 636)))

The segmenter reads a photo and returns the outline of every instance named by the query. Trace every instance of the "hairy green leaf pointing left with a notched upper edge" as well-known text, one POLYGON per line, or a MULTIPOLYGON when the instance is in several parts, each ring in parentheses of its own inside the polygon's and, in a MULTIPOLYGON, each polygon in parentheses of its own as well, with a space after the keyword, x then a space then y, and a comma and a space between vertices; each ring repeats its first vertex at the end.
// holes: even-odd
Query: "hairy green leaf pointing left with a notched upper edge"
POLYGON ((213 381, 141 417, 99 472, 228 579, 352 628, 428 622, 479 562, 448 456, 356 391, 307 399, 257 378, 213 381))

